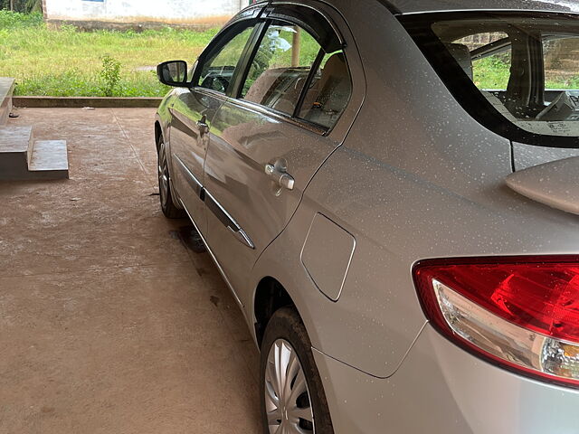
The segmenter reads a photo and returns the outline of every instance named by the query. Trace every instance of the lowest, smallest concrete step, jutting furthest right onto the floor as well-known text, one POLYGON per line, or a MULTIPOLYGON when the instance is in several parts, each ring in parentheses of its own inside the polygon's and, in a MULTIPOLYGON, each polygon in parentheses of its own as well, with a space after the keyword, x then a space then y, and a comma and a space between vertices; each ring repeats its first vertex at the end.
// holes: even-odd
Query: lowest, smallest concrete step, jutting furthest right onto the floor
POLYGON ((69 159, 66 141, 36 140, 28 165, 31 179, 66 179, 69 177, 69 159))

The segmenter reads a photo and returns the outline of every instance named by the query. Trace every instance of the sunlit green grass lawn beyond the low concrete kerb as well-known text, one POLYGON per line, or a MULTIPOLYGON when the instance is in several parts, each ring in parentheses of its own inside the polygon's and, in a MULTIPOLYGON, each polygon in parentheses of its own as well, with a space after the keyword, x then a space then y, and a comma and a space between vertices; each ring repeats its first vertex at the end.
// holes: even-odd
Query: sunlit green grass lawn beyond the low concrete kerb
POLYGON ((161 97, 168 88, 151 67, 192 63, 217 30, 81 32, 0 10, 0 76, 16 79, 16 95, 161 97))

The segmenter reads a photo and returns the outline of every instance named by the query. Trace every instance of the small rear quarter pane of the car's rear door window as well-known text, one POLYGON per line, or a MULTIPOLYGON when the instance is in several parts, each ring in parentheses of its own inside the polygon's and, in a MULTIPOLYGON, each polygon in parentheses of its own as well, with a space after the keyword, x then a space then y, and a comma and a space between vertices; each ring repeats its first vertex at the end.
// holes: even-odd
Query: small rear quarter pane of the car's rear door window
POLYGON ((352 96, 352 80, 343 51, 327 53, 309 85, 299 118, 333 127, 352 96))

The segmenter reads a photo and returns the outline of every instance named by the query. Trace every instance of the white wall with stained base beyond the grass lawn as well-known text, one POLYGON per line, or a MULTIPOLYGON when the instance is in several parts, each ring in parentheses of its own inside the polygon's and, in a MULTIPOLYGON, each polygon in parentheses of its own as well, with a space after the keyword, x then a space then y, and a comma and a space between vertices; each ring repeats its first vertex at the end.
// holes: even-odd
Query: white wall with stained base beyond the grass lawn
POLYGON ((45 0, 49 20, 213 24, 237 14, 248 0, 45 0))

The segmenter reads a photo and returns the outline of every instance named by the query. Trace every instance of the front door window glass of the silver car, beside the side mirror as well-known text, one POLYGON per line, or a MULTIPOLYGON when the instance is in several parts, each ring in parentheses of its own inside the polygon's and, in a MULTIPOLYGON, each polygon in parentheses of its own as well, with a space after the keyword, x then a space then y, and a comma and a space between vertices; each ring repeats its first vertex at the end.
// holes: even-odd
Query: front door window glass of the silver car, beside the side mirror
POLYGON ((233 77, 233 72, 242 57, 243 49, 252 35, 253 27, 246 28, 205 60, 199 86, 225 93, 233 77))

